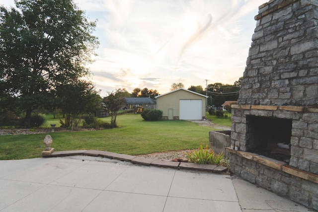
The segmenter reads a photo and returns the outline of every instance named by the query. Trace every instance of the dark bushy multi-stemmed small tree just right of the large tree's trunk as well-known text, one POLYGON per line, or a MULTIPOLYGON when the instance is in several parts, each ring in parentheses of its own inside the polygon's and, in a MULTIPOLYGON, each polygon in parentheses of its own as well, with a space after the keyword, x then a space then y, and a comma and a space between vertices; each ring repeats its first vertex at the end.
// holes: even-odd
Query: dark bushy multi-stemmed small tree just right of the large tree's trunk
POLYGON ((85 113, 92 113, 101 108, 99 91, 89 81, 73 80, 57 89, 58 107, 65 114, 65 121, 60 120, 65 127, 74 130, 85 113))

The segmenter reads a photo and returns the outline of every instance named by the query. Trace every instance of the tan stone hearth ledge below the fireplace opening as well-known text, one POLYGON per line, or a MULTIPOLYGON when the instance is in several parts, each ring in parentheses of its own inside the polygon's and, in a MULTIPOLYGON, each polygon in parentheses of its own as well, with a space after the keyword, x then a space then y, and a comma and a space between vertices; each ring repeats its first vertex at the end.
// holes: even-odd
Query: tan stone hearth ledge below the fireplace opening
POLYGON ((243 157, 243 158, 246 158, 249 160, 253 160, 255 162, 258 162, 258 163, 263 164, 265 166, 271 167, 273 169, 277 169, 277 170, 280 170, 282 172, 291 174, 293 176, 300 177, 302 179, 305 179, 305 180, 308 180, 308 181, 311 181, 314 183, 318 183, 318 175, 317 174, 313 174, 313 173, 306 172, 306 171, 303 171, 300 169, 296 169, 290 165, 287 165, 286 162, 275 160, 275 159, 268 158, 268 157, 265 157, 263 155, 258 155, 258 154, 251 153, 251 152, 231 149, 230 147, 226 147, 226 150, 229 152, 232 152, 234 154, 237 154, 240 157, 243 157))

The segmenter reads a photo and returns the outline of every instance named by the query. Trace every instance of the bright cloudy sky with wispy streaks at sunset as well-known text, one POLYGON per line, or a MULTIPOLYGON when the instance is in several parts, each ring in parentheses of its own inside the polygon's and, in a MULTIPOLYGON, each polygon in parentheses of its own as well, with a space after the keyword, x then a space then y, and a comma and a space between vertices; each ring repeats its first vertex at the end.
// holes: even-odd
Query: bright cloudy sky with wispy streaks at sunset
POLYGON ((163 94, 179 82, 233 84, 246 66, 258 6, 268 1, 74 0, 96 20, 100 45, 88 68, 101 96, 136 87, 163 94))

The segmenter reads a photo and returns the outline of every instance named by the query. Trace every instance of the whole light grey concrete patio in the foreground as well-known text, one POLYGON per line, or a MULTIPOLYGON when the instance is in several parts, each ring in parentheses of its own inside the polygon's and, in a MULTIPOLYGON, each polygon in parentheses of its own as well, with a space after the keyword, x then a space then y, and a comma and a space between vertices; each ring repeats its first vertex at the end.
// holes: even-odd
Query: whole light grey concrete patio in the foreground
POLYGON ((73 155, 0 161, 0 170, 1 212, 310 211, 228 175, 111 158, 73 155))

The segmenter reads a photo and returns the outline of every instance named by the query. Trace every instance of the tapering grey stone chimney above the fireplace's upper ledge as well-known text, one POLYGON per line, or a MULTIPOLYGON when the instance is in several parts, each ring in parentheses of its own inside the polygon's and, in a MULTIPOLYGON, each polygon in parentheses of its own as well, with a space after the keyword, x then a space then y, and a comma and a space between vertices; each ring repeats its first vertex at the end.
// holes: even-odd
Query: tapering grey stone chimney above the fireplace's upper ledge
POLYGON ((239 105, 318 104, 318 0, 259 7, 239 105))

